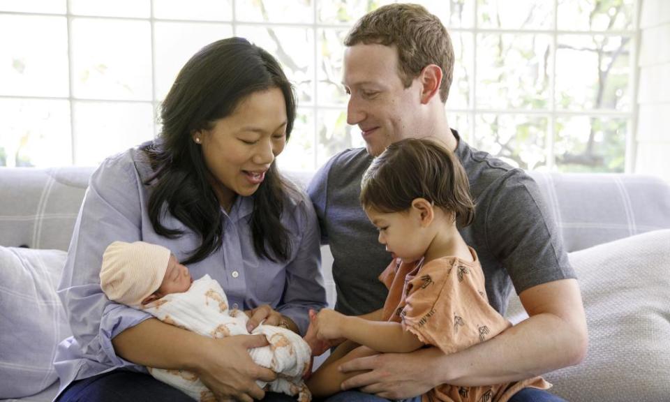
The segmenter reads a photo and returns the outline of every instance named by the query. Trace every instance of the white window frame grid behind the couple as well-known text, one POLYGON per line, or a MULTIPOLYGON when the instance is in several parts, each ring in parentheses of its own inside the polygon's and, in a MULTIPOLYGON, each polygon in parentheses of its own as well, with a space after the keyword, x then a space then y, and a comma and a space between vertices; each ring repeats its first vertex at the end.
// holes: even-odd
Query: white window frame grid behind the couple
MULTIPOLYGON (((322 104, 318 103, 318 49, 319 49, 319 38, 318 33, 319 29, 347 29, 352 26, 352 24, 322 24, 318 22, 318 3, 320 1, 328 0, 313 0, 312 1, 312 11, 313 11, 313 22, 312 23, 277 23, 277 22, 246 22, 244 20, 238 20, 236 15, 236 4, 237 1, 244 0, 232 0, 231 1, 231 15, 232 20, 177 20, 177 19, 163 19, 154 17, 154 0, 149 0, 150 15, 149 17, 103 17, 103 16, 91 16, 91 15, 74 15, 70 10, 70 3, 66 1, 66 13, 57 14, 57 13, 28 13, 28 12, 13 12, 13 11, 0 11, 2 15, 40 15, 48 17, 66 17, 67 20, 67 35, 68 35, 68 71, 69 71, 69 95, 68 96, 16 96, 16 95, 0 95, 0 98, 19 98, 19 99, 40 99, 40 100, 59 100, 59 101, 68 101, 70 103, 70 144, 72 148, 72 161, 71 163, 75 164, 77 161, 76 147, 75 147, 75 114, 73 113, 73 104, 75 102, 98 102, 105 101, 110 103, 151 103, 152 110, 156 112, 161 102, 156 99, 156 43, 155 43, 155 27, 156 22, 188 22, 190 24, 231 24, 233 35, 237 34, 237 29, 240 25, 244 26, 258 26, 258 27, 299 27, 299 28, 311 28, 313 30, 313 41, 314 41, 314 72, 313 72, 313 100, 310 103, 301 103, 299 104, 299 110, 310 110, 313 113, 313 144, 315 147, 318 147, 318 124, 319 119, 318 115, 321 111, 336 110, 336 111, 345 111, 346 105, 332 105, 332 104, 322 104), (72 43, 72 22, 75 18, 87 18, 87 19, 102 19, 102 20, 139 20, 147 21, 151 26, 151 101, 137 101, 137 100, 109 100, 101 98, 75 98, 73 96, 73 82, 75 80, 74 70, 73 70, 73 43, 72 43)), ((512 0, 513 1, 513 0, 512 0)), ((469 127, 466 131, 461 131, 461 134, 466 137, 467 140, 472 140, 475 137, 475 121, 479 114, 500 114, 500 115, 509 115, 509 114, 526 114, 526 115, 541 115, 548 119, 547 126, 547 141, 546 141, 546 168, 548 170, 555 170, 555 156, 554 156, 554 137, 555 137, 555 127, 556 119, 558 117, 575 117, 575 116, 588 116, 588 117, 617 117, 622 119, 627 119, 627 137, 625 144, 625 172, 633 172, 635 165, 635 144, 636 144, 636 126, 637 126, 637 114, 638 106, 636 101, 637 89, 639 86, 639 68, 637 66, 637 60, 639 55, 639 44, 640 44, 640 29, 639 29, 639 15, 641 10, 641 1, 634 0, 634 14, 633 14, 633 28, 632 31, 562 31, 558 30, 558 0, 552 0, 553 2, 553 28, 552 29, 496 29, 496 28, 480 28, 477 24, 477 0, 473 0, 474 10, 472 12, 472 27, 461 28, 447 27, 449 32, 453 33, 467 33, 472 35, 472 43, 474 45, 474 50, 470 52, 472 60, 472 76, 470 77, 470 105, 466 108, 453 108, 449 107, 449 113, 458 113, 458 114, 467 114, 470 121, 469 127), (543 110, 514 110, 514 109, 489 109, 477 107, 477 40, 478 34, 543 34, 551 35, 551 74, 549 75, 549 109, 543 110), (556 108, 556 96, 555 96, 555 84, 556 84, 556 48, 558 36, 569 34, 583 34, 583 35, 600 35, 600 36, 628 36, 631 38, 630 44, 630 77, 629 77, 629 96, 630 96, 630 110, 628 111, 618 111, 618 110, 585 110, 585 111, 575 111, 575 110, 557 110, 556 108)), ((154 116, 154 119, 156 117, 154 116)), ((154 135, 158 134, 158 125, 154 124, 154 135)), ((454 127, 458 129, 458 127, 454 127)), ((484 149, 486 151, 486 149, 484 149)), ((313 168, 318 168, 318 153, 316 149, 313 152, 313 168)))

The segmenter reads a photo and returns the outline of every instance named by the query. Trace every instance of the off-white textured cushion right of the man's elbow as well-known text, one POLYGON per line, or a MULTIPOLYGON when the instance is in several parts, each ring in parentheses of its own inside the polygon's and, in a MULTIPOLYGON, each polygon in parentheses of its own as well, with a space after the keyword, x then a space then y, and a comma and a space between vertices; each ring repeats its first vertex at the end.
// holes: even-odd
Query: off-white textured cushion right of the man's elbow
MULTIPOLYGON (((589 347, 581 364, 544 375, 552 391, 568 401, 666 401, 670 230, 601 244, 569 258, 579 277, 589 347)), ((511 314, 523 311, 519 299, 509 307, 511 314)))

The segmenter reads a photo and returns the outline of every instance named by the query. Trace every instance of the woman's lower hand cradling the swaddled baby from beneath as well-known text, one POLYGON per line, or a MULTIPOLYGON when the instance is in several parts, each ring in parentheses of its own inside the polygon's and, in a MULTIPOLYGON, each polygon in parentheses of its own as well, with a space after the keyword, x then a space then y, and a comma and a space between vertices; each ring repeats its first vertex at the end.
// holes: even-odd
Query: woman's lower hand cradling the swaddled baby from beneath
POLYGON ((202 383, 218 401, 253 402, 263 399, 265 392, 255 380, 272 381, 276 374, 253 362, 248 349, 267 346, 262 335, 236 335, 207 338, 198 366, 193 368, 202 383))

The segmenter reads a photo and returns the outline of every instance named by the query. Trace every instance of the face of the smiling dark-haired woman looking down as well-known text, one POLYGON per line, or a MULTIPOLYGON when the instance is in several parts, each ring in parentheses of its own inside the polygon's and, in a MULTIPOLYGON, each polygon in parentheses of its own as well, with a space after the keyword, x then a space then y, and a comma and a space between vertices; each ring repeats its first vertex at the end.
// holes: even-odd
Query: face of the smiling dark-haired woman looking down
POLYGON ((244 98, 232 114, 193 134, 201 144, 214 193, 230 210, 236 195, 255 193, 286 144, 286 103, 281 89, 244 98))

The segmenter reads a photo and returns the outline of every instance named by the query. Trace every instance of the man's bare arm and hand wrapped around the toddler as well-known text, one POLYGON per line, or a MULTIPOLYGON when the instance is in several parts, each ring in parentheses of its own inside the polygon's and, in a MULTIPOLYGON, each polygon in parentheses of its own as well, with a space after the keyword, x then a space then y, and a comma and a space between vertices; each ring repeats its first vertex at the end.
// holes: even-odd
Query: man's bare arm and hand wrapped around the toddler
POLYGON ((343 388, 361 387, 383 398, 403 399, 440 384, 467 387, 511 382, 581 362, 588 335, 576 280, 536 285, 519 297, 528 320, 489 341, 452 355, 438 348, 422 348, 403 355, 355 359, 341 369, 369 371, 345 380, 343 388))

